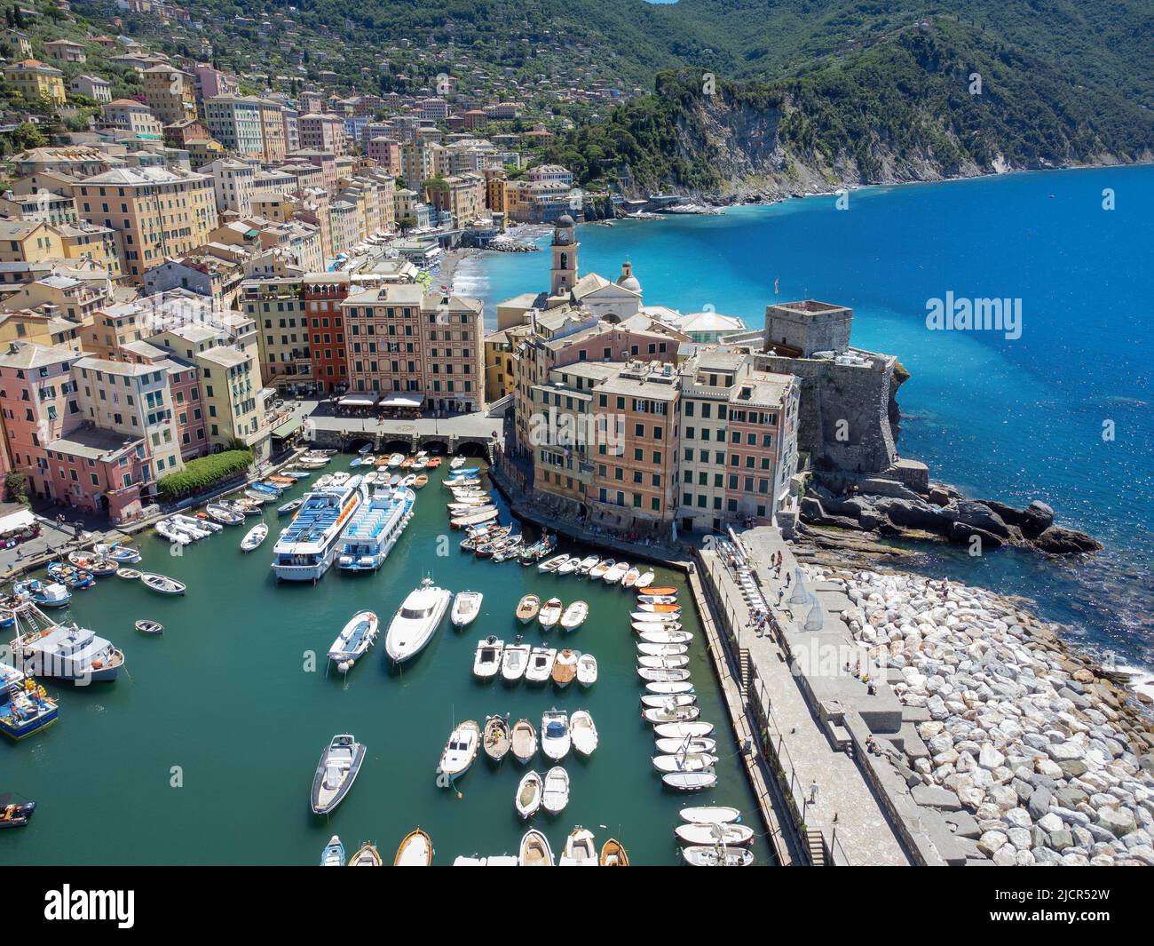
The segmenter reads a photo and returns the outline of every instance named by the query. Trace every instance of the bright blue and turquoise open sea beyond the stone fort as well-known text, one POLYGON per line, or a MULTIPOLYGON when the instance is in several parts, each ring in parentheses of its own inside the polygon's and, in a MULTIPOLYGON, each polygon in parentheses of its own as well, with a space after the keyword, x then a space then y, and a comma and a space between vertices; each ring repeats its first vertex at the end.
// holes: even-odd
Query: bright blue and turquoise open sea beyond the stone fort
MULTIPOLYGON (((645 301, 764 323, 766 303, 854 307, 855 344, 897 355, 899 450, 968 494, 1043 499, 1106 543, 1088 561, 935 548, 915 567, 1035 598, 1122 663, 1154 664, 1154 167, 1050 171, 853 192, 578 229, 579 265, 634 263, 645 301), (1103 192, 1114 192, 1114 210, 1103 192), (1021 337, 931 332, 927 300, 1018 298, 1021 337), (1103 432, 1112 427, 1112 439, 1103 432)), ((486 254, 457 291, 494 304, 547 284, 545 254, 486 254)), ((921 546, 926 548, 926 546, 921 546)))

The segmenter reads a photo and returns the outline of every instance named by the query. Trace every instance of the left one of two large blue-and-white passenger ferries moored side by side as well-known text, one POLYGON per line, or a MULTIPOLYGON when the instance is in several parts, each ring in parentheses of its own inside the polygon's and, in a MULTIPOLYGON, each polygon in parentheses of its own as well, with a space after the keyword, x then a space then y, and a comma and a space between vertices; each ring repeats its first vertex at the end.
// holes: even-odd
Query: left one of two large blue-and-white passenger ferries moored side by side
POLYGON ((272 546, 276 576, 285 581, 320 579, 340 550, 342 534, 367 500, 368 486, 359 476, 306 494, 305 505, 272 546))

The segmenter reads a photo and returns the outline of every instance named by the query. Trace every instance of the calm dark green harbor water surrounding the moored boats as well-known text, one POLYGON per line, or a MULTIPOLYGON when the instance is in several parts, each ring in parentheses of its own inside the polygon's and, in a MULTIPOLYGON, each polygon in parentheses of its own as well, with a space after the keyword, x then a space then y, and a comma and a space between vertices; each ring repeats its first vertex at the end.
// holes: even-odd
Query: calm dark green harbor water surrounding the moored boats
MULTIPOLYGON (((347 469, 351 459, 334 457, 321 472, 347 469)), ((126 671, 115 683, 88 687, 45 680, 60 701, 58 722, 20 743, 0 742, 0 792, 38 803, 29 827, 0 832, 0 863, 314 865, 338 834, 346 854, 373 841, 389 864, 415 827, 432 836, 435 865, 458 855, 516 854, 526 826, 514 796, 525 768, 511 754, 501 766, 481 754, 457 781, 458 798, 437 788, 437 761, 455 721, 484 725, 487 715, 500 713, 511 721, 524 716, 539 729, 541 713, 553 707, 587 709, 600 736, 592 757, 570 752, 562 762, 570 776, 568 807, 532 819, 555 856, 574 826, 583 825, 598 848, 610 836, 622 841, 635 865, 677 864, 679 809, 725 804, 744 812, 743 821, 758 833, 757 863, 769 863, 683 578, 659 569, 655 583, 683 589, 702 718, 718 727, 718 784, 696 794, 669 791, 653 769, 653 732, 640 718, 644 690, 629 625, 632 593, 462 552, 464 536, 448 528, 443 472, 434 471, 418 491, 415 514, 376 574, 332 567, 315 586, 278 583, 269 561, 286 520, 278 522, 278 504, 270 504, 263 516, 269 538, 249 554, 239 544, 255 516, 180 554, 151 529, 138 537, 134 544, 144 558, 135 567, 186 582, 185 597, 119 578, 76 591, 67 614, 121 647, 126 671), (384 631, 426 574, 452 591, 482 591, 481 616, 463 632, 447 617, 426 649, 396 672, 388 666, 384 631), (473 651, 487 634, 511 641, 524 631, 525 642, 557 646, 561 632, 542 632, 535 621, 522 628, 514 618, 529 591, 565 604, 589 602, 589 620, 564 640, 597 657, 592 687, 473 677, 473 651), (347 679, 335 668, 327 673, 330 643, 361 609, 381 617, 376 646, 347 679), (164 634, 138 634, 133 621, 140 618, 162 621, 164 634), (309 788, 321 751, 337 732, 352 732, 367 754, 355 785, 325 819, 309 810, 309 788)), ((298 484, 279 502, 305 489, 298 484)), ((509 521, 507 512, 502 521, 509 521)), ((577 550, 562 543, 560 551, 577 550)), ((544 775, 552 762, 539 752, 531 765, 544 775)))

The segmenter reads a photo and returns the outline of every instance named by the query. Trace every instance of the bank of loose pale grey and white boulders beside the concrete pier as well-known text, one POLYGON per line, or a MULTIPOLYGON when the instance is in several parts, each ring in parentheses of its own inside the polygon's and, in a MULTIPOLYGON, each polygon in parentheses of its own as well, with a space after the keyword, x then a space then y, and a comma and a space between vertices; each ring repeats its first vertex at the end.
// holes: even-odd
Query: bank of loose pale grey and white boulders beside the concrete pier
POLYGON ((878 739, 973 859, 1154 865, 1154 732, 1108 671, 1021 602, 913 575, 807 566, 844 588, 861 672, 916 736, 878 739), (904 757, 904 758, 901 758, 904 757))

